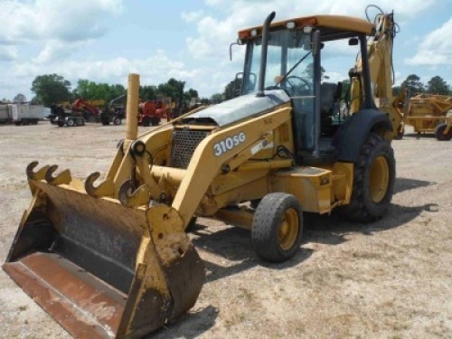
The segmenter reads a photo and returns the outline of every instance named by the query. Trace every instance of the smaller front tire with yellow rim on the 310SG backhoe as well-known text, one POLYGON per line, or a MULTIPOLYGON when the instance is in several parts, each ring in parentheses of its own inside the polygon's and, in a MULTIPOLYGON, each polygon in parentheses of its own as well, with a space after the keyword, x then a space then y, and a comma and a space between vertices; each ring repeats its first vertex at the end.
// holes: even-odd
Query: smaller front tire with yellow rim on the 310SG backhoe
POLYGON ((294 195, 269 193, 254 212, 251 229, 253 248, 261 259, 283 262, 300 248, 303 211, 294 195))

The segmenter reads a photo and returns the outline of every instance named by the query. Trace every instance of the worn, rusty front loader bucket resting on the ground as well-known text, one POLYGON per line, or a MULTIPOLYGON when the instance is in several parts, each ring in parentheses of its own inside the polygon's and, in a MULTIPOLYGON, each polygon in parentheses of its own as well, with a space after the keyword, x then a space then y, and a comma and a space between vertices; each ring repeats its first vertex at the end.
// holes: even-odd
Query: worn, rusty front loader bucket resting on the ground
POLYGON ((75 337, 136 338, 190 309, 204 268, 171 207, 29 181, 5 272, 75 337))

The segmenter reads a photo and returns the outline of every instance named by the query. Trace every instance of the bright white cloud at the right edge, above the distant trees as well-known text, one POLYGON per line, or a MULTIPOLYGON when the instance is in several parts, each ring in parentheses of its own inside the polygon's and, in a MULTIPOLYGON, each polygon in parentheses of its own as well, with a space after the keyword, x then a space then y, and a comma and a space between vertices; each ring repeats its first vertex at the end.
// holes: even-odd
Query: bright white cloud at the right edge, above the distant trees
POLYGON ((452 17, 437 30, 428 33, 419 44, 418 52, 405 62, 414 66, 452 66, 452 17))

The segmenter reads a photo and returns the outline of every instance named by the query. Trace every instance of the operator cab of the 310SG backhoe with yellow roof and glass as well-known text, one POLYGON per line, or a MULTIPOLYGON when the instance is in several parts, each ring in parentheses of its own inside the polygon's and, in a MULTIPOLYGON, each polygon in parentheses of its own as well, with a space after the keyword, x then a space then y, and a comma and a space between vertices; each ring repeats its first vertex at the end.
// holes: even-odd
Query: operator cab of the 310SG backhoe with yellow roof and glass
POLYGON ((240 94, 259 93, 262 67, 264 93, 268 89, 287 92, 293 107, 297 163, 334 161, 332 140, 348 116, 350 101, 343 94, 350 91, 351 83, 344 65, 366 52, 366 34, 371 32, 372 24, 335 15, 271 24, 267 41, 262 26, 240 31, 239 42, 247 46, 240 94), (349 61, 343 61, 344 56, 349 61))

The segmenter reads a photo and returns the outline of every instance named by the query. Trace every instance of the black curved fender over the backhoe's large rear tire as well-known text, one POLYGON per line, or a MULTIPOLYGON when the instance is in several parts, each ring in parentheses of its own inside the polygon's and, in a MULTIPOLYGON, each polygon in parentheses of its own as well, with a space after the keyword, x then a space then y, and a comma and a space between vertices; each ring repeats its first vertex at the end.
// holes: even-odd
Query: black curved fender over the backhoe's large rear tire
POLYGON ((333 146, 340 162, 354 163, 358 160, 361 146, 372 131, 392 131, 387 114, 375 108, 361 109, 348 118, 334 136, 333 146))

